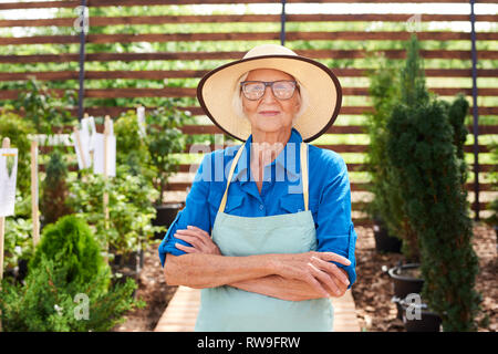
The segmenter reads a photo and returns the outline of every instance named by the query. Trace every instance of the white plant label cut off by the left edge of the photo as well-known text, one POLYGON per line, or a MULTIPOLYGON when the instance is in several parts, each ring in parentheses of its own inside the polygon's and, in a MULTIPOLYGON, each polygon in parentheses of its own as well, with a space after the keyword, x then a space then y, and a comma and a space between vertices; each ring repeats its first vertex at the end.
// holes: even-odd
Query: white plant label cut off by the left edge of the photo
POLYGON ((18 149, 0 148, 0 217, 14 214, 18 149))

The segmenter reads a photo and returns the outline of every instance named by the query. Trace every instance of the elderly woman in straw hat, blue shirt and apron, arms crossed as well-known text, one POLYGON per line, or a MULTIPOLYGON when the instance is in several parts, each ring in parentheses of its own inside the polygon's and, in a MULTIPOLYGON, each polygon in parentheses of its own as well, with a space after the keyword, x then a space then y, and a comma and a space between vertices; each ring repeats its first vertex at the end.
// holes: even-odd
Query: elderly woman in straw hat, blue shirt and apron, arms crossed
POLYGON ((355 281, 343 158, 304 142, 341 106, 332 71, 280 45, 209 72, 198 100, 245 142, 207 154, 159 246, 166 282, 201 289, 196 331, 332 331, 355 281))

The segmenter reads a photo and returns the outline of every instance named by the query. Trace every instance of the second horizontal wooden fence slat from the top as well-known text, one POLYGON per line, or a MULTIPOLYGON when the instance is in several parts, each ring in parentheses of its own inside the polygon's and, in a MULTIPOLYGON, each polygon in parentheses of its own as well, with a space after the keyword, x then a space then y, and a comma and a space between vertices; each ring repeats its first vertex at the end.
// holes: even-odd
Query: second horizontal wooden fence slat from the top
MULTIPOLYGON (((406 22, 413 13, 310 13, 286 15, 287 22, 406 22)), ((417 19, 418 20, 418 19, 417 19)), ((476 14, 476 21, 498 22, 494 14, 476 14)), ((73 27, 76 18, 0 20, 0 27, 73 27)), ((205 15, 127 15, 127 17, 91 17, 92 27, 116 24, 164 24, 164 23, 230 23, 230 22, 280 22, 280 14, 205 14, 205 15)), ((421 22, 470 21, 469 14, 432 14, 424 13, 421 22)))

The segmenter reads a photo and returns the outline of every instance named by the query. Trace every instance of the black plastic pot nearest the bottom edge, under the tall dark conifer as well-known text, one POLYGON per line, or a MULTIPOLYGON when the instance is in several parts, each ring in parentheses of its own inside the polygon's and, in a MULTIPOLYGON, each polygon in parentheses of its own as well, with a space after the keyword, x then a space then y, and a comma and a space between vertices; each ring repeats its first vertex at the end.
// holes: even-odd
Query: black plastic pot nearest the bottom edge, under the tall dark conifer
POLYGON ((403 311, 403 324, 405 325, 406 332, 440 332, 443 321, 437 313, 430 312, 427 309, 426 303, 414 304, 403 299, 400 301, 400 305, 403 311), (418 319, 413 316, 413 311, 419 311, 418 319), (408 312, 412 316, 408 315, 408 312))

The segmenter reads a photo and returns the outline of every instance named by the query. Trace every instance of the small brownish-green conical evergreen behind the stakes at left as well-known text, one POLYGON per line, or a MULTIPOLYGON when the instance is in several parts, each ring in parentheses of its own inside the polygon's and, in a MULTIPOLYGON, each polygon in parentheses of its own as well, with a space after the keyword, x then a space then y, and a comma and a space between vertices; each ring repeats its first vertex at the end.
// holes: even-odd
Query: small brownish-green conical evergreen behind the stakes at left
POLYGON ((68 164, 59 149, 50 154, 50 159, 45 165, 45 178, 42 185, 42 197, 40 199, 40 210, 43 215, 44 223, 53 223, 59 218, 72 214, 65 199, 68 198, 68 164))

